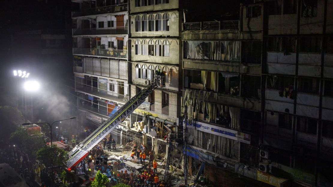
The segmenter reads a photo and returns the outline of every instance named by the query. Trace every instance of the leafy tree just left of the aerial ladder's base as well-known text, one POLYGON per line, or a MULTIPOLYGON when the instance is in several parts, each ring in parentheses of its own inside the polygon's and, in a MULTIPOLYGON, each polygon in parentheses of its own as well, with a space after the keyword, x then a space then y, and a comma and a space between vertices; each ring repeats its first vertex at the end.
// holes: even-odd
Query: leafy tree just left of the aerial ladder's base
POLYGON ((59 149, 55 144, 42 147, 36 155, 37 159, 44 163, 46 167, 63 165, 67 161, 67 152, 59 149))

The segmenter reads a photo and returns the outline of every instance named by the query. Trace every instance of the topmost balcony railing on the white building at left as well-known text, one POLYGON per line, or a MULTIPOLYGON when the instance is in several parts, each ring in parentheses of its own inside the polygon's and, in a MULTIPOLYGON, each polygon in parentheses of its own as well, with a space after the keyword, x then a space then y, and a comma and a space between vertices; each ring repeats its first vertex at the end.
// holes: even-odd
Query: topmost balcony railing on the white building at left
POLYGON ((83 9, 78 12, 72 12, 72 17, 88 16, 88 15, 95 15, 95 14, 107 14, 107 13, 124 12, 124 11, 128 11, 127 3, 119 4, 119 5, 105 6, 105 7, 83 9))

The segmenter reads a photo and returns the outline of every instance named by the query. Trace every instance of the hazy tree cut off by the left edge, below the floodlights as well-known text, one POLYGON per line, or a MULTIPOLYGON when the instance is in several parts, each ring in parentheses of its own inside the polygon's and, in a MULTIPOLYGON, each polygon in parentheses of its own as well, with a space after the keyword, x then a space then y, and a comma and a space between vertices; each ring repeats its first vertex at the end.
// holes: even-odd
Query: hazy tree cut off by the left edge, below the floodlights
POLYGON ((0 131, 0 136, 4 138, 9 138, 9 135, 24 123, 22 113, 11 106, 0 106, 0 119, 0 126, 6 127, 0 131))

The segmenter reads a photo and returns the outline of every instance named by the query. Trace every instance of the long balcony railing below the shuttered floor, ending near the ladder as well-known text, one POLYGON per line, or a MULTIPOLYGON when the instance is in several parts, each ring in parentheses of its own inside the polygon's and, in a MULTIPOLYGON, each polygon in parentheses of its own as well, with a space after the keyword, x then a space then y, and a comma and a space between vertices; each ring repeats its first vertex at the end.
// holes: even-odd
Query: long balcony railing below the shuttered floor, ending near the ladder
POLYGON ((84 84, 80 84, 78 82, 75 83, 75 90, 81 91, 90 95, 96 95, 98 97, 119 101, 119 102, 127 102, 129 100, 128 95, 108 92, 106 90, 86 86, 84 84))

